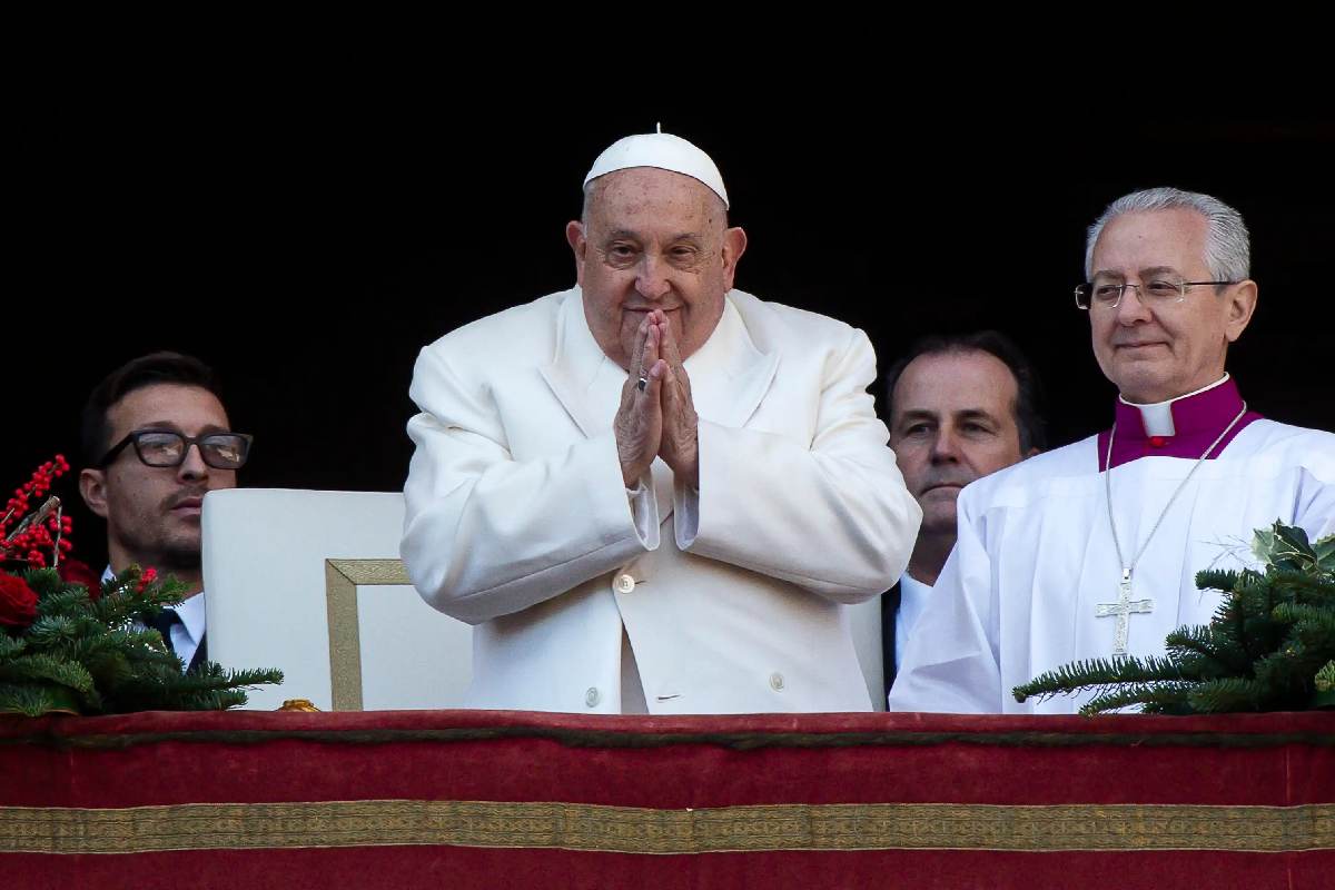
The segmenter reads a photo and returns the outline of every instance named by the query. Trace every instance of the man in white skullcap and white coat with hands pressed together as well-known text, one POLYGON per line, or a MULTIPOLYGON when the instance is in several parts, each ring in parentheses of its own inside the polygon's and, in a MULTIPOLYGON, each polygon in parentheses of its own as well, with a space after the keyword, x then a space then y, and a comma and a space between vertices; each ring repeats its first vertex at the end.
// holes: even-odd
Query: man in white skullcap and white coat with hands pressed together
POLYGON ((733 290, 714 163, 629 136, 566 227, 578 286, 426 347, 403 559, 475 624, 475 707, 865 711, 846 603, 921 511, 866 335, 733 290))

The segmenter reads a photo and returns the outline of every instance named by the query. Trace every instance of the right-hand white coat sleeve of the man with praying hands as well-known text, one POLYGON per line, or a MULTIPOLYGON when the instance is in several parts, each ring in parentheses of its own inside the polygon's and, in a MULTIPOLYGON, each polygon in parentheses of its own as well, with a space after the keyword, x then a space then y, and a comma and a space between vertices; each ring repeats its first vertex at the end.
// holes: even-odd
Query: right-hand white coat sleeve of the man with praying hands
POLYGON ((677 546, 841 603, 893 586, 922 512, 866 392, 874 378, 872 344, 850 330, 825 366, 809 444, 701 420, 700 490, 674 491, 677 546))

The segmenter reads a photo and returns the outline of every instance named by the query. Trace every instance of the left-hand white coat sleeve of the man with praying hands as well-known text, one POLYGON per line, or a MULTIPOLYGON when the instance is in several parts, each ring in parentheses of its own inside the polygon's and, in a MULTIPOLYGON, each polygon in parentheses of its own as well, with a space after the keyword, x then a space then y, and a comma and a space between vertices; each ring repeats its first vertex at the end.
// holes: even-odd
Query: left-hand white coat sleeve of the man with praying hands
POLYGON ((629 491, 613 434, 515 460, 486 387, 427 347, 413 372, 417 450, 400 552, 423 599, 478 624, 658 547, 653 484, 629 491))

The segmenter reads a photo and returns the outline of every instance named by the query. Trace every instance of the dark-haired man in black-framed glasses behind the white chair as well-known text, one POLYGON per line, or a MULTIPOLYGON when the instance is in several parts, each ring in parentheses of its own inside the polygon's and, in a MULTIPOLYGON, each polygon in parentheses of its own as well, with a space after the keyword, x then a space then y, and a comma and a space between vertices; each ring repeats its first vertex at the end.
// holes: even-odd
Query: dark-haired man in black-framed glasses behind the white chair
POLYGON ((81 432, 89 466, 79 490, 107 520, 104 576, 138 563, 184 582, 186 600, 152 626, 195 667, 208 656, 200 508, 207 492, 236 487, 251 438, 231 431, 212 371, 175 352, 134 359, 99 383, 81 432))

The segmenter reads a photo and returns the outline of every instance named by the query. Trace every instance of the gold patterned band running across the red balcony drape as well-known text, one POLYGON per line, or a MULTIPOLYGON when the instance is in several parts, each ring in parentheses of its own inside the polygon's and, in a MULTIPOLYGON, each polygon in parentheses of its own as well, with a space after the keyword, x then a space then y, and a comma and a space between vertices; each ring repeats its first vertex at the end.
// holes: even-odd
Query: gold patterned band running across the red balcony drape
POLYGON ((0 807, 0 853, 445 845, 633 854, 772 850, 1335 849, 1335 805, 842 803, 650 810, 583 803, 335 801, 0 807))

